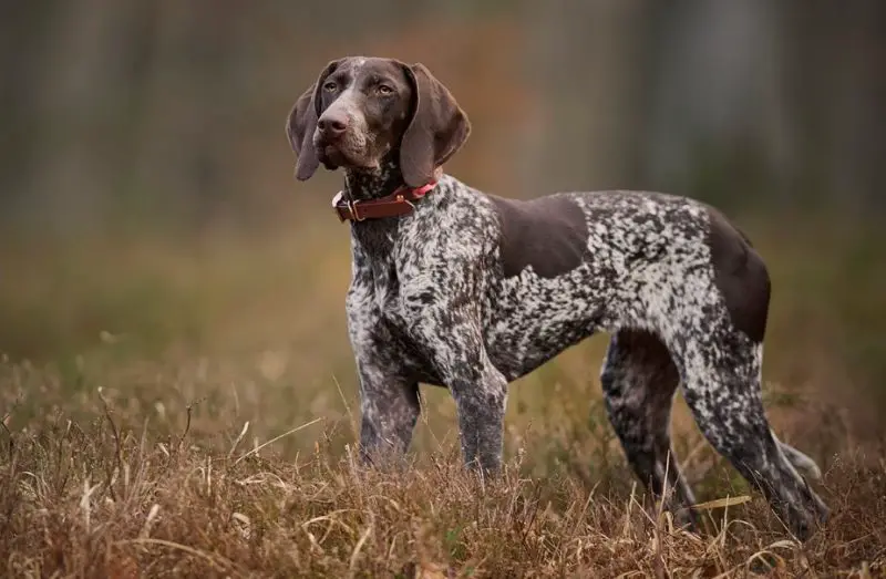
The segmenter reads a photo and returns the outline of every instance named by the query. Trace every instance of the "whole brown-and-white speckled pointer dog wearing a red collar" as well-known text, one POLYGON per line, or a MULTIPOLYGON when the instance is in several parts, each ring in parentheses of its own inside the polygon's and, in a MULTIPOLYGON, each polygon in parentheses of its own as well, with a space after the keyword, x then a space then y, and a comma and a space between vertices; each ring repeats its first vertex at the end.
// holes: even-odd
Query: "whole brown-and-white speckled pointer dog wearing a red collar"
POLYGON ((330 62, 296 102, 296 177, 344 169, 348 330, 360 379, 363 459, 403 453, 419 383, 445 385, 467 464, 502 458, 508 382, 596 331, 612 334, 600 379, 637 476, 693 524, 672 459, 678 384, 707 440, 805 539, 828 508, 815 463, 780 442, 761 397, 770 279, 715 209, 659 193, 483 194, 440 167, 471 133, 425 66, 330 62), (669 457, 670 455, 670 457, 669 457), (667 486, 666 486, 667 485, 667 486))

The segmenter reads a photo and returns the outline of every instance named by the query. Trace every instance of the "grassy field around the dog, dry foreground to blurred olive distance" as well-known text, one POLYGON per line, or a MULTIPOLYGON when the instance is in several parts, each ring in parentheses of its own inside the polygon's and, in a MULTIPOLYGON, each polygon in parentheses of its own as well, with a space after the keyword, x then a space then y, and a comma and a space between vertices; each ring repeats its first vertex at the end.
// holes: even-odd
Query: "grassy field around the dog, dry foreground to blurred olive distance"
POLYGON ((700 535, 673 529, 600 405, 606 337, 512 386, 501 478, 460 468, 454 405, 439 389, 422 391, 412 465, 359 468, 348 240, 329 225, 302 224, 297 240, 4 250, 0 576, 886 575, 879 399, 832 348, 844 335, 835 318, 876 322, 883 280, 847 273, 863 244, 836 242, 853 239, 845 230, 754 236, 776 288, 770 416, 818 461, 833 508, 800 545, 679 400, 674 444, 705 516, 700 535), (833 255, 810 265, 811 242, 833 255), (853 299, 822 311, 837 283, 853 299))

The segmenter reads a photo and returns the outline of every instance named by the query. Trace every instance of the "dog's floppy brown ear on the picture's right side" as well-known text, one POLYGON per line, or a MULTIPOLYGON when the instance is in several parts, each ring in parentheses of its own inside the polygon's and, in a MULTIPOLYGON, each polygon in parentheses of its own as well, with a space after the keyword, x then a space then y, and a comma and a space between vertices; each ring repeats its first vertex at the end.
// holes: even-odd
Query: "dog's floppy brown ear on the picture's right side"
POLYGON ((400 169, 406 185, 421 187, 467 141, 471 122, 423 64, 403 69, 412 83, 414 112, 400 144, 400 169))

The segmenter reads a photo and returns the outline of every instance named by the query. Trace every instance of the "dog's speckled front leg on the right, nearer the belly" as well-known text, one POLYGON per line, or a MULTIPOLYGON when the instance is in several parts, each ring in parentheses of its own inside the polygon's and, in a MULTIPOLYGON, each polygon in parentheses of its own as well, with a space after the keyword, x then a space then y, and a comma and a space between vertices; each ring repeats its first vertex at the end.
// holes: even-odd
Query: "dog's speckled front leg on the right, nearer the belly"
POLYGON ((502 462, 507 380, 492 364, 475 313, 463 307, 422 310, 414 337, 429 352, 452 392, 459 416, 462 455, 485 473, 502 462))

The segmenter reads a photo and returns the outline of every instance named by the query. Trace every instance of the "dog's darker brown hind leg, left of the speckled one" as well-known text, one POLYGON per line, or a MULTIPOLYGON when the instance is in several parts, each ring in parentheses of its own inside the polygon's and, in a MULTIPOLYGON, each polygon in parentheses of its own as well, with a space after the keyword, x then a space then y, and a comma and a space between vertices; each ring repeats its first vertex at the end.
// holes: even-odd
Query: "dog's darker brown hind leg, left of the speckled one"
POLYGON ((620 330, 600 373, 606 410, 631 468, 680 524, 694 526, 694 503, 671 448, 670 417, 677 368, 653 334, 620 330), (667 473, 667 475, 666 475, 667 473), (667 488, 666 488, 667 484, 667 488))

